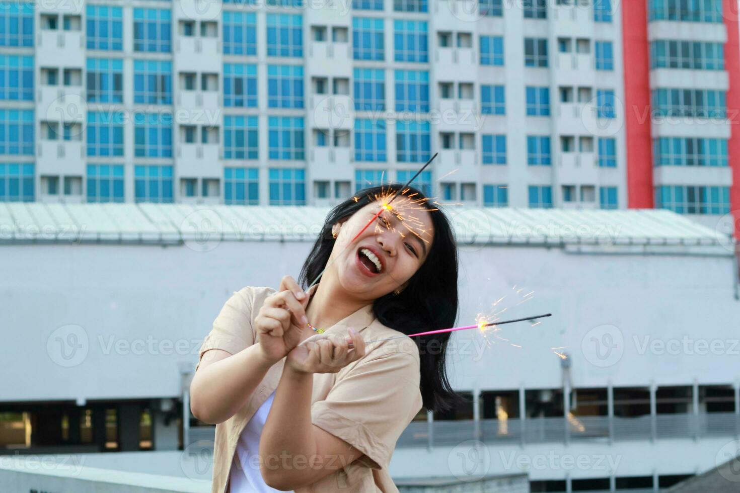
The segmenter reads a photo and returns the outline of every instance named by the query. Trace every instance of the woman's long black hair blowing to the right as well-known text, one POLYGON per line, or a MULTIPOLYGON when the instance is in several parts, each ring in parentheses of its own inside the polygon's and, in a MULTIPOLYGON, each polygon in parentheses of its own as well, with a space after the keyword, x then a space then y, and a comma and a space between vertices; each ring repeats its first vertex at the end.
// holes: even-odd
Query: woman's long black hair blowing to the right
MULTIPOLYGON (((303 263, 298 282, 307 289, 309 282, 326 267, 332 254, 334 242, 332 225, 348 219, 365 205, 383 194, 399 191, 401 183, 365 188, 343 203, 332 208, 326 216, 323 228, 314 246, 303 263)), ((414 187, 403 189, 412 200, 426 199, 422 191, 414 187)), ((426 330, 454 327, 457 319, 457 245, 450 222, 436 205, 420 201, 420 206, 429 210, 434 225, 434 238, 429 253, 420 268, 408 280, 400 294, 388 293, 376 299, 374 315, 380 323, 411 334, 426 330), (437 209, 437 210, 433 210, 437 209)), ((416 336, 412 338, 419 349, 423 405, 431 411, 452 409, 462 399, 452 390, 445 370, 445 351, 451 333, 416 336)))

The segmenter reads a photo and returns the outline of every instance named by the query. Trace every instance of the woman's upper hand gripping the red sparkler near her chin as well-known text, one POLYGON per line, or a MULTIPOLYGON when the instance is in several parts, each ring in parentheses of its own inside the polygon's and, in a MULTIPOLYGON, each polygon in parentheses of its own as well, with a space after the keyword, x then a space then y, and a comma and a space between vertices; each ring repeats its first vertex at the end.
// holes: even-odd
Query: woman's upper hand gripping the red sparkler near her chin
POLYGON ((277 363, 297 346, 306 323, 309 296, 295 279, 284 276, 277 293, 265 299, 255 317, 260 352, 267 361, 277 363))

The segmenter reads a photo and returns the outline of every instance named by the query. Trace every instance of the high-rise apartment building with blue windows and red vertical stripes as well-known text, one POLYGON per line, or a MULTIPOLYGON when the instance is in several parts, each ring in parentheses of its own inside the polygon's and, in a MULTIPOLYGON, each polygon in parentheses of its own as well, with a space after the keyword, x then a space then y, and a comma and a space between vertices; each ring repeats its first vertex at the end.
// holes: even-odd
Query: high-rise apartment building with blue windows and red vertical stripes
POLYGON ((738 38, 730 0, 3 1, 0 200, 326 205, 439 152, 441 200, 715 224, 738 38))

